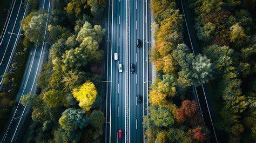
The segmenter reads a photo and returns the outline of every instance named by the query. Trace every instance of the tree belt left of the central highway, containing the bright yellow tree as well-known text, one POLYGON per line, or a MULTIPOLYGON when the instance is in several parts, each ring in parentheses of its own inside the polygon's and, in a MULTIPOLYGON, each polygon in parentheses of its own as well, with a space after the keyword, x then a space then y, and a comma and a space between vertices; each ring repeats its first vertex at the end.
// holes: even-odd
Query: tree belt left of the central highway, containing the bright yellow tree
MULTIPOLYGON (((100 142, 105 116, 99 105, 105 1, 53 0, 46 41, 52 46, 39 75, 40 94, 27 94, 32 121, 23 142, 100 142)), ((31 10, 22 21, 30 42, 42 44, 47 13, 31 10)))

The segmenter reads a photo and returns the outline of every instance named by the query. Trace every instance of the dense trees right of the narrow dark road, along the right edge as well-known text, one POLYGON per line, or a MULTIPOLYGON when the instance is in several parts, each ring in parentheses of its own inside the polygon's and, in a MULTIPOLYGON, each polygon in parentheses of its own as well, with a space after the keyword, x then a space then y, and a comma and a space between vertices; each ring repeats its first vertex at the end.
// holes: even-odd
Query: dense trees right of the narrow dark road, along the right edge
POLYGON ((223 142, 256 140, 255 1, 191 3, 203 54, 211 59, 211 96, 223 142))

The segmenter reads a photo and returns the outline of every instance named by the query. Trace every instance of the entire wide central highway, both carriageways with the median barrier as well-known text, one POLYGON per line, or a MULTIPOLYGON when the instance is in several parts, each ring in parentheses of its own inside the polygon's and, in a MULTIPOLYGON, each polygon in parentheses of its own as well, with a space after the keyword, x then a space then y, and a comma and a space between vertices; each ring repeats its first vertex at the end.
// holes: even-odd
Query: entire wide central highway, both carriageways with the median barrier
POLYGON ((105 142, 144 142, 147 114, 147 1, 109 1, 105 142), (141 46, 137 47, 136 40, 141 46), (114 60, 118 53, 118 60, 114 60), (119 64, 123 72, 118 71, 119 64), (130 65, 135 72, 131 73, 130 65), (137 96, 142 98, 138 103, 137 96), (122 138, 118 131, 122 130, 122 138))

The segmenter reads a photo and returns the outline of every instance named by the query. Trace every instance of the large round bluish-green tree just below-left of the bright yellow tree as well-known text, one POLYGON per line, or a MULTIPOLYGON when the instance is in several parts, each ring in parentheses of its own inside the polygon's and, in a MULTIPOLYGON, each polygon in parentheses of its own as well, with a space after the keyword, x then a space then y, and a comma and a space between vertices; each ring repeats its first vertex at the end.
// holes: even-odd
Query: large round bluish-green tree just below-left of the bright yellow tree
POLYGON ((75 108, 68 108, 59 118, 59 125, 68 131, 82 129, 89 123, 89 118, 85 115, 85 111, 75 108))

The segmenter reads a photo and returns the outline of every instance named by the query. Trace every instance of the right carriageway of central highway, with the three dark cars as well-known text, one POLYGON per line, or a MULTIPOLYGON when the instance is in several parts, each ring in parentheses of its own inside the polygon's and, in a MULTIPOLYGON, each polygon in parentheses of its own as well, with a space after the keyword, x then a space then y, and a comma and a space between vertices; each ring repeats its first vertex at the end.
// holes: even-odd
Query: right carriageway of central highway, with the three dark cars
POLYGON ((143 115, 144 115, 144 50, 146 49, 144 33, 144 4, 145 1, 130 1, 130 64, 135 65, 135 73, 130 72, 130 128, 129 141, 143 142, 143 115), (141 47, 137 47, 136 41, 140 40, 141 47), (142 103, 138 103, 138 97, 142 98, 142 103))

